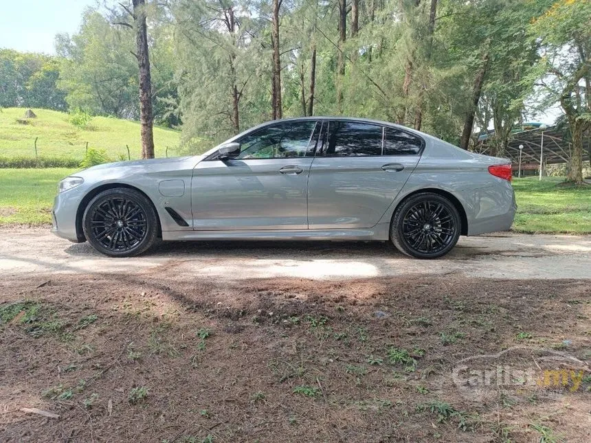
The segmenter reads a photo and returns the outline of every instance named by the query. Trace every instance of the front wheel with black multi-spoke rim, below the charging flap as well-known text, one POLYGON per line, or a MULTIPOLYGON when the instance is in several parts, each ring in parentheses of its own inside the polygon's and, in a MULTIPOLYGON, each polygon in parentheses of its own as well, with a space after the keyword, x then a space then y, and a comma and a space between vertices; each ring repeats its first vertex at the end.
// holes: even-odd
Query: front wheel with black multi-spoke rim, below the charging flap
POLYGON ((87 240, 109 257, 133 257, 147 251, 156 241, 158 226, 152 203, 129 188, 100 192, 82 216, 87 240))

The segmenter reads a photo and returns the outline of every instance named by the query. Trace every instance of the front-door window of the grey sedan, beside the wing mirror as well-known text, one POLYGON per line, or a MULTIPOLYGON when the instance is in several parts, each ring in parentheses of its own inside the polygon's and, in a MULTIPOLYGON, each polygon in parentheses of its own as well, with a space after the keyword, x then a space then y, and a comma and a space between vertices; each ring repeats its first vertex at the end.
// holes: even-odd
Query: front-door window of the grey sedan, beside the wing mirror
POLYGON ((274 124, 238 140, 238 159, 287 159, 305 157, 316 122, 274 124))

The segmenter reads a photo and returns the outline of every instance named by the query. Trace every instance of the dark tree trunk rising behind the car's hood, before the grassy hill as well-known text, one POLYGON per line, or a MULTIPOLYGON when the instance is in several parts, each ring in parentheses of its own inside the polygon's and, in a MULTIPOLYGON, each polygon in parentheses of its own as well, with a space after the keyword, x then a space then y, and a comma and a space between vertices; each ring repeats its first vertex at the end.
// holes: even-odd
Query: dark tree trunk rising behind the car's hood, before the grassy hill
POLYGON ((133 0, 135 19, 135 41, 137 65, 140 68, 140 135, 142 137, 142 159, 154 158, 152 81, 150 59, 148 58, 148 31, 144 0, 133 0))

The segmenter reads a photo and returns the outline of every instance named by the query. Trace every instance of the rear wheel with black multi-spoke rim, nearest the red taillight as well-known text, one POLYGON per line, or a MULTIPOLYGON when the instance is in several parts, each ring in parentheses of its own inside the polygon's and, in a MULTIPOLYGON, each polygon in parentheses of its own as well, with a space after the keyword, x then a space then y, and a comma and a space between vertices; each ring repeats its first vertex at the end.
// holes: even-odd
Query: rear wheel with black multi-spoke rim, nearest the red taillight
POLYGON ((439 258, 456 246, 461 223, 454 203, 439 194, 421 192, 397 207, 390 225, 390 240, 411 257, 439 258))

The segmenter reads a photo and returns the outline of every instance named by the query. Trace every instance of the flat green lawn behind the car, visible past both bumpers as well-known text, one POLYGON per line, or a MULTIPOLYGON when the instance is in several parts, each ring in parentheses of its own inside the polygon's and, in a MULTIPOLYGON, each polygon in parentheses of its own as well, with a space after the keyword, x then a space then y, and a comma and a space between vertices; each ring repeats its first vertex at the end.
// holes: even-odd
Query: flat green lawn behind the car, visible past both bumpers
MULTIPOLYGON (((0 225, 51 222, 58 181, 74 172, 63 168, 0 169, 0 225)), ((517 216, 513 230, 591 234, 591 186, 573 188, 562 179, 515 179, 517 216)))

